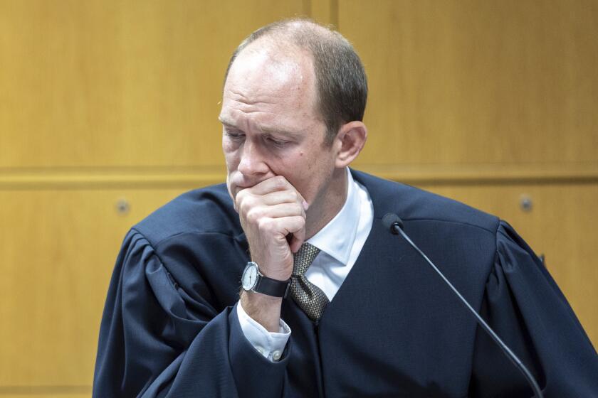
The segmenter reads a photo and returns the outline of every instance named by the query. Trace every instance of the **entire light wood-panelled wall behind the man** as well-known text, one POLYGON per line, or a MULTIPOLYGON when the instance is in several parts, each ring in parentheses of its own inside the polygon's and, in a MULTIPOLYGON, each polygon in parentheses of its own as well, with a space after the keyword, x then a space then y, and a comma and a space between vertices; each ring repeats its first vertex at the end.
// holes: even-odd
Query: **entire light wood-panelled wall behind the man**
POLYGON ((226 63, 287 16, 362 56, 356 166, 508 220, 598 342, 597 2, 0 0, 0 396, 90 395, 122 237, 224 181, 226 63))

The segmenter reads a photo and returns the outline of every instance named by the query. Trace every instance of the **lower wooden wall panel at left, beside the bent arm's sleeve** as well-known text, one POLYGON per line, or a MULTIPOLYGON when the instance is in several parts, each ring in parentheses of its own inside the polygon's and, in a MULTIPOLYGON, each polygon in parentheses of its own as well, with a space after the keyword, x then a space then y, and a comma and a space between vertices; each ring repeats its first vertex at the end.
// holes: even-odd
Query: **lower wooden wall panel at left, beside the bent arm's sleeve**
POLYGON ((0 190, 0 387, 91 384, 122 238, 180 192, 0 190))

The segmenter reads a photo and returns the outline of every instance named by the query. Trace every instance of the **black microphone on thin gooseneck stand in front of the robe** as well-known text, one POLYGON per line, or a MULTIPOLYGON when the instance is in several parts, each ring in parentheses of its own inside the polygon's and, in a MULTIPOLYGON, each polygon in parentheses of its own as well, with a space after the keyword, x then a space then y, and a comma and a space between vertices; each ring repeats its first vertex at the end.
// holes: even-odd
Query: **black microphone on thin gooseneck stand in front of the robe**
POLYGON ((478 321, 479 325, 483 328, 483 330, 486 330, 486 333, 488 333, 492 340, 494 340, 494 342, 498 344, 500 349, 503 350, 503 353, 505 353, 505 355, 510 359, 510 361, 513 362, 515 367, 517 367, 518 370, 520 370, 523 373, 525 379, 528 380, 530 387, 532 387, 534 396, 536 398, 543 398, 544 395, 542 395, 540 387, 538 387, 535 378, 528 370, 528 368, 525 367, 525 365, 523 365, 523 362, 521 362, 517 355, 515 355, 515 353, 513 353, 513 351, 510 348, 508 348, 508 346, 503 342, 503 340, 500 340, 495 331, 492 330, 490 326, 488 326, 488 323, 486 323, 486 321, 484 321, 483 318, 476 312, 476 310, 473 309, 473 307, 467 302, 467 300, 463 296, 461 296, 461 293, 459 293, 458 290, 455 289, 455 286, 453 286, 453 284, 449 282, 449 279, 446 279, 446 276, 444 276, 444 274, 442 274, 438 267, 436 267, 436 265, 434 265, 434 263, 431 262, 431 260, 426 256, 426 254, 424 254, 424 252, 422 252, 421 249, 419 249, 419 247, 417 247, 416 244, 414 244, 414 242, 411 242, 411 239, 409 239, 409 237, 403 231, 403 221, 401 220, 401 218, 394 213, 387 213, 387 215, 384 215, 384 217, 382 217, 382 225, 384 225, 384 227, 387 227, 390 230, 390 232, 392 232, 394 235, 402 235, 404 239, 407 242, 409 242, 409 244, 411 244, 411 246, 414 249, 416 249, 416 251, 419 254, 421 254, 421 257, 424 257, 426 262, 430 264, 430 267, 432 267, 432 269, 436 271, 436 274, 439 274, 442 280, 447 285, 449 285, 451 290, 457 295, 459 300, 461 300, 461 303, 463 303, 463 305, 468 308, 468 310, 473 314, 473 316, 476 317, 476 321, 478 321))

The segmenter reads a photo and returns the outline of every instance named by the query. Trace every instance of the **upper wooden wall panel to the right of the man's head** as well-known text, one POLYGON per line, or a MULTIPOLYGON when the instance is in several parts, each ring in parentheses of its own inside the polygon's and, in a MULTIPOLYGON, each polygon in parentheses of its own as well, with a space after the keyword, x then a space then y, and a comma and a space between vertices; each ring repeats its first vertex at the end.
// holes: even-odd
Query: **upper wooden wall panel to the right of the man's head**
POLYGON ((360 164, 598 161, 596 1, 345 0, 370 97, 360 164))

